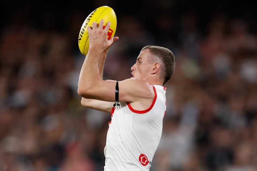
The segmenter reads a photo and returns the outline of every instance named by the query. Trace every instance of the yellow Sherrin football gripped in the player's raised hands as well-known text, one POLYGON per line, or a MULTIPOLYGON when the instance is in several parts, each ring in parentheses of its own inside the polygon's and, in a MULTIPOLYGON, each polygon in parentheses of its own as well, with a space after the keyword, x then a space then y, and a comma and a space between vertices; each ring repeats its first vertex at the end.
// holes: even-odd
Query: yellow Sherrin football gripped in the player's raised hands
POLYGON ((85 21, 83 22, 79 36, 78 36, 78 47, 80 52, 83 55, 86 55, 89 49, 89 39, 88 39, 88 31, 87 27, 91 27, 93 22, 99 23, 99 21, 103 19, 103 27, 106 26, 106 23, 108 21, 111 22, 110 29, 107 34, 108 40, 111 37, 114 37, 116 27, 117 27, 117 18, 114 10, 111 7, 108 6, 102 6, 97 9, 95 9, 93 12, 91 12, 85 21))

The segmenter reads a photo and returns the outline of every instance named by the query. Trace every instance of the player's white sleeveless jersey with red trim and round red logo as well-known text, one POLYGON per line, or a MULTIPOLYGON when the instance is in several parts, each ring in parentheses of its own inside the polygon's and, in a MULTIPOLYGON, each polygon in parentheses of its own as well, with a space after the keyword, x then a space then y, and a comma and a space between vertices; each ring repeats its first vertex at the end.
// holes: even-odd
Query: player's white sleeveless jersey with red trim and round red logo
POLYGON ((134 110, 128 102, 114 104, 104 148, 104 171, 149 171, 166 112, 166 87, 153 86, 155 97, 146 110, 134 110))

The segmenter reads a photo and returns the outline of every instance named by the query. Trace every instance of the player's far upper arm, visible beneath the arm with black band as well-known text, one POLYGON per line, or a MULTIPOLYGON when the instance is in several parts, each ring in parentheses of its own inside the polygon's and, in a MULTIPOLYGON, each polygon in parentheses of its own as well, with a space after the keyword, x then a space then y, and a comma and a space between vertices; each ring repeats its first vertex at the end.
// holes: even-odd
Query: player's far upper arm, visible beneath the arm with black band
POLYGON ((82 106, 88 107, 90 109, 95 109, 103 112, 111 112, 114 102, 86 99, 82 97, 81 104, 82 106))

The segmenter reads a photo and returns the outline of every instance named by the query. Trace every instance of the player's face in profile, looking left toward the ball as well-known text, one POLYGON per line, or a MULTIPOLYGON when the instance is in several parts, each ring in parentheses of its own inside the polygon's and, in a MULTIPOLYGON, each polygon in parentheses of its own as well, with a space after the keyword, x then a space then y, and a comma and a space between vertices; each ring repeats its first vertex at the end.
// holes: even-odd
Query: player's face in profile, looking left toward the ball
POLYGON ((148 49, 143 50, 137 57, 137 62, 131 67, 131 78, 148 80, 151 76, 151 54, 148 49))

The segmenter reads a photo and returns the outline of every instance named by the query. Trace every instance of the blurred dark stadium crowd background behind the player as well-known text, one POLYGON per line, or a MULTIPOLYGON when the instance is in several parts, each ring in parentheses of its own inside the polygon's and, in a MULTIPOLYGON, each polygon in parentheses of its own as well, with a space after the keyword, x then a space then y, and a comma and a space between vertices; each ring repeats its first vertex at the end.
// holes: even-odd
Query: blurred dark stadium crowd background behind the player
POLYGON ((78 31, 117 15, 104 78, 130 77, 140 48, 176 69, 151 171, 257 169, 257 27, 248 1, 1 1, 0 170, 101 171, 110 114, 80 105, 78 31))

